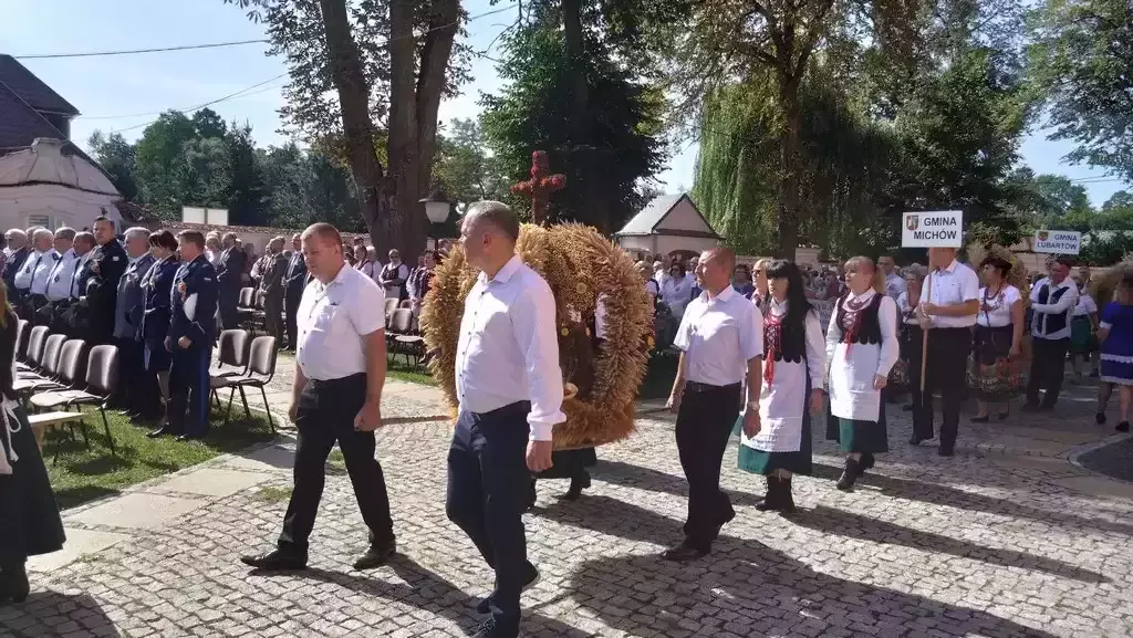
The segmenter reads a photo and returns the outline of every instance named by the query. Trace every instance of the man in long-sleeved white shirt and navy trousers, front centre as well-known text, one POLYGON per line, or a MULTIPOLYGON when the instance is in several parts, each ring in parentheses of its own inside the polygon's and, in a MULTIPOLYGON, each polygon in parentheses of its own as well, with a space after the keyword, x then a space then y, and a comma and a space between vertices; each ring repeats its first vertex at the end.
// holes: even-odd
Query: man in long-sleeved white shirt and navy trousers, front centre
POLYGON ((519 595, 539 572, 527 560, 523 508, 533 473, 552 466, 552 429, 566 420, 551 287, 516 254, 519 218, 500 202, 469 206, 461 224, 480 271, 457 344, 460 416, 449 450, 446 511, 495 570, 476 638, 519 635, 519 595))

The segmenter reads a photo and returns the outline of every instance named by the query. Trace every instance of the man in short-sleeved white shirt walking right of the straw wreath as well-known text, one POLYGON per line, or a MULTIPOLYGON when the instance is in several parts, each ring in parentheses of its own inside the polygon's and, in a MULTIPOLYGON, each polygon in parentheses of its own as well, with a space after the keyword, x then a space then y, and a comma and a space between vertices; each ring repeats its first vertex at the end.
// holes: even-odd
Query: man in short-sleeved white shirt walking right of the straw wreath
POLYGON ((689 482, 684 542, 662 558, 690 561, 707 555, 719 529, 735 518, 719 488, 721 463, 740 409, 747 378, 743 431, 759 432, 764 321, 759 309, 732 288, 735 255, 716 248, 701 255, 705 290, 684 311, 676 331, 681 352, 668 408, 676 412, 676 449, 689 482))

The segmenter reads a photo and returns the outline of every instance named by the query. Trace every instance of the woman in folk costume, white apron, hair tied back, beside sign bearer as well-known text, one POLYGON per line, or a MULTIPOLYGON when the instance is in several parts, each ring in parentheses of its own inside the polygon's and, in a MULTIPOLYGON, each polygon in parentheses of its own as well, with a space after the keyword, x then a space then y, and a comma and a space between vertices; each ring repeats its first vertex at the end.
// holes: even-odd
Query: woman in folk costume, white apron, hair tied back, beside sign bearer
POLYGON ((830 415, 826 437, 846 452, 842 491, 874 467, 874 454, 889 451, 881 390, 896 363, 897 306, 885 295, 885 277, 869 257, 846 262, 849 290, 834 307, 826 330, 826 383, 830 415))

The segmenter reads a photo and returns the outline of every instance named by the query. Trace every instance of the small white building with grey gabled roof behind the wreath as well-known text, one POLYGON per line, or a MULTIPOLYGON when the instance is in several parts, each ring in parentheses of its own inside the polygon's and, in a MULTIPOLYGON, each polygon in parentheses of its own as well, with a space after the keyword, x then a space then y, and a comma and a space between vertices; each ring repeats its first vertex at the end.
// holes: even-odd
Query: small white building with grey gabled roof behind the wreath
POLYGON ((687 194, 654 198, 614 237, 623 249, 650 255, 702 253, 724 239, 687 194))

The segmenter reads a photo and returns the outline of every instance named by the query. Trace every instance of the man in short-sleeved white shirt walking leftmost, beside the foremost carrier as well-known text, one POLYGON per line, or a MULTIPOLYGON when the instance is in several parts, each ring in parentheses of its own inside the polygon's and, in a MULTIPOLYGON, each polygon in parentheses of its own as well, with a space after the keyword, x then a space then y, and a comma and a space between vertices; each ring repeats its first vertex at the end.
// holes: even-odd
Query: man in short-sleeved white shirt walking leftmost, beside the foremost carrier
POLYGON ((299 303, 298 365, 288 409, 299 431, 295 490, 276 548, 240 560, 265 570, 306 569, 326 457, 337 441, 369 528, 369 548, 353 567, 373 569, 397 551, 385 476, 374 457, 386 366, 385 314, 374 308, 385 306, 385 296, 373 280, 347 265, 342 237, 333 226, 313 224, 301 241, 313 280, 299 303))

